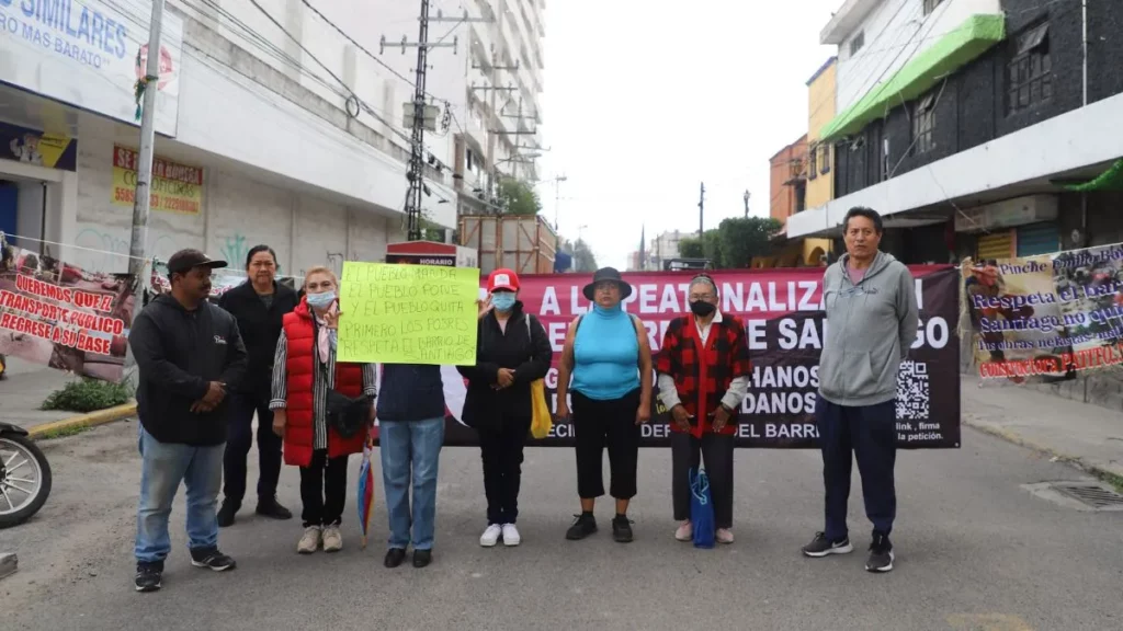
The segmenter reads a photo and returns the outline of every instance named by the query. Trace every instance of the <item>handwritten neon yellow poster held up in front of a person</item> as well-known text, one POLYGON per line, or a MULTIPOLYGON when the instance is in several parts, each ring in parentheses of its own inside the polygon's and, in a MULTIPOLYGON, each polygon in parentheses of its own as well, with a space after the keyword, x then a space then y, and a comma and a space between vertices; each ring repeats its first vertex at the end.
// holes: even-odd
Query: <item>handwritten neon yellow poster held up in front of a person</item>
POLYGON ((480 269, 344 262, 340 362, 476 363, 480 269))

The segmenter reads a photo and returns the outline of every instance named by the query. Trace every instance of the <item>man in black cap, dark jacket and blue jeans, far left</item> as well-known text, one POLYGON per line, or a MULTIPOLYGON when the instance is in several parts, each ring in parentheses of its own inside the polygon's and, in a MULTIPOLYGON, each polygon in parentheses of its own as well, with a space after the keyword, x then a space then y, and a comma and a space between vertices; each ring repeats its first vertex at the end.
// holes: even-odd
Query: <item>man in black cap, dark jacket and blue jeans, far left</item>
POLYGON ((172 293, 137 316, 129 346, 139 368, 137 412, 143 461, 137 511, 136 588, 159 589, 172 546, 167 519, 186 486, 191 564, 216 571, 235 561, 218 549, 219 487, 227 430, 227 392, 246 368, 234 317, 208 302, 211 271, 226 262, 185 249, 167 262, 172 293))

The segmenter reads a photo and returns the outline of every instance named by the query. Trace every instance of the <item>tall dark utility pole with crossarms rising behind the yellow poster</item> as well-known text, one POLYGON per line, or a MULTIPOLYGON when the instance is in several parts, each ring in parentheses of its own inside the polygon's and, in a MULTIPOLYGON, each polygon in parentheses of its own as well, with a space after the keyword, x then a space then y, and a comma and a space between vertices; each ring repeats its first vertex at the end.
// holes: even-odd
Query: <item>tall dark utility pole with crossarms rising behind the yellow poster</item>
MULTIPOLYGON (((466 17, 466 16, 465 16, 466 17)), ((437 18, 433 20, 444 21, 444 16, 439 12, 437 18)), ((410 135, 410 164, 409 171, 405 173, 405 179, 410 182, 409 192, 405 194, 405 221, 407 221, 407 239, 410 241, 421 240, 421 199, 423 194, 428 194, 428 186, 424 185, 424 130, 428 127, 430 130, 436 130, 436 113, 432 113, 426 108, 426 73, 429 70, 429 48, 439 47, 451 47, 453 54, 456 54, 456 37, 453 38, 450 44, 430 44, 429 43, 429 0, 421 0, 421 15, 418 16, 418 40, 416 43, 407 42, 405 37, 402 37, 401 47, 402 54, 405 54, 405 48, 417 47, 418 49, 418 61, 417 68, 414 68, 413 79, 413 115, 410 117, 405 116, 407 122, 409 122, 412 128, 412 134, 410 135), (431 115, 431 116, 430 116, 431 115)), ((380 53, 385 52, 386 48, 386 36, 382 36, 380 53)))

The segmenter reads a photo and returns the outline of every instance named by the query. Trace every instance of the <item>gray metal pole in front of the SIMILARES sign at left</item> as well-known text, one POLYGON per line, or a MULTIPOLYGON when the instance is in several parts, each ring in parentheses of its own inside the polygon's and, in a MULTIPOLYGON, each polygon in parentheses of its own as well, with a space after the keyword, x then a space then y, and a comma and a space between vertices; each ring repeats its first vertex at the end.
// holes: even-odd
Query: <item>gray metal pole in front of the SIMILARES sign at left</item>
MULTIPOLYGON (((144 104, 140 109, 140 156, 137 164, 137 185, 133 192, 133 235, 129 238, 129 275, 135 283, 133 292, 133 321, 144 305, 144 269, 147 263, 145 247, 148 241, 148 209, 152 204, 152 161, 156 145, 156 94, 159 92, 159 35, 164 21, 164 0, 153 0, 148 25, 148 52, 145 63, 144 104)), ((140 62, 139 52, 137 63, 140 62)), ((131 322, 130 322, 131 326, 131 322)), ((126 371, 136 359, 129 350, 126 371)), ((126 373, 127 374, 127 373, 126 373)))

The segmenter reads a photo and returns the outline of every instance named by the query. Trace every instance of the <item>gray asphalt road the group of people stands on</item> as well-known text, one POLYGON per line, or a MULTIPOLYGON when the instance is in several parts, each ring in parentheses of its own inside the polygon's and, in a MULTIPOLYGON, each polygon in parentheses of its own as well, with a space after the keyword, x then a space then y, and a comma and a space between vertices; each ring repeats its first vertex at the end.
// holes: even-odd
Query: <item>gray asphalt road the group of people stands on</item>
MULTIPOLYGON (((1080 512, 1030 494, 1021 485, 1081 475, 964 431, 961 450, 900 456, 897 569, 888 575, 862 570, 869 525, 857 478, 851 533, 859 550, 822 560, 798 555, 821 522, 813 451, 740 450, 737 542, 697 550, 672 537, 668 451, 641 452, 637 540, 619 545, 604 528, 606 503, 597 507, 599 536, 564 539, 576 504, 573 452, 528 450, 523 543, 483 549, 478 452, 450 448, 427 569, 382 567, 381 479, 367 550, 357 545, 348 495, 343 552, 300 557, 296 520, 244 514, 222 531, 221 547, 239 561, 228 574, 190 566, 181 496, 164 589, 137 594, 136 424, 116 423, 47 443, 55 469, 48 505, 0 531, 0 551, 18 552, 21 568, 0 582, 0 621, 52 631, 1123 629, 1123 512, 1080 512)), ((357 466, 355 457, 351 484, 357 466)), ((295 469, 285 469, 282 486, 282 501, 299 509, 295 469)))

